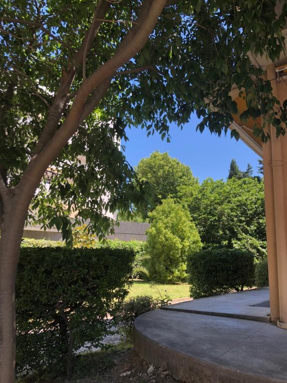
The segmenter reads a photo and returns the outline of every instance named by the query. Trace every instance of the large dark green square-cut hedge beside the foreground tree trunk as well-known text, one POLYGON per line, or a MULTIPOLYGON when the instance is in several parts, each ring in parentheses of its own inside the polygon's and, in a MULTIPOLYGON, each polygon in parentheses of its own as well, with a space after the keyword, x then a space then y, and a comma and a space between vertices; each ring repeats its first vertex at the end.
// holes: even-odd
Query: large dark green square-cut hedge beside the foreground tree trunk
POLYGON ((16 281, 17 374, 72 371, 85 343, 101 345, 128 294, 135 252, 22 247, 16 281))

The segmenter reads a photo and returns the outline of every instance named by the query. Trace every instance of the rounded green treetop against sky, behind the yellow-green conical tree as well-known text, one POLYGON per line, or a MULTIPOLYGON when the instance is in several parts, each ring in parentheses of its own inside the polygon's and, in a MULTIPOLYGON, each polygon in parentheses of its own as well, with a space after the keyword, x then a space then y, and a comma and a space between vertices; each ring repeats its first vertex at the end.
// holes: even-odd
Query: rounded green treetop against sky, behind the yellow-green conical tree
POLYGON ((154 152, 143 158, 136 168, 138 178, 146 182, 146 204, 143 218, 161 203, 162 199, 179 198, 180 189, 188 188, 190 192, 198 187, 198 180, 190 168, 168 153, 154 152))

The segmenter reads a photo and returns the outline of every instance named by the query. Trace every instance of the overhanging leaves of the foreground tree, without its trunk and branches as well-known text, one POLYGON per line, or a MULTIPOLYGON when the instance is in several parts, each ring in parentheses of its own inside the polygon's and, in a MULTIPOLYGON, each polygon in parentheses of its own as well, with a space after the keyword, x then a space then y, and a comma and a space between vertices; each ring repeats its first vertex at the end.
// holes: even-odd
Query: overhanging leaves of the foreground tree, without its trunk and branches
MULTIPOLYGON (((109 3, 105 17, 114 22, 101 23, 83 60, 85 70, 83 63, 76 65, 58 127, 71 110, 83 72, 89 77, 113 57, 141 6, 141 1, 109 3)), ((169 124, 182 127, 195 112, 202 120, 197 129, 226 133, 232 115, 238 113, 230 96, 234 85, 247 104, 241 119, 263 116, 263 126, 254 126, 256 135, 266 141, 267 123, 284 134, 287 103, 279 105, 263 70, 251 63, 248 54, 274 61, 284 50, 281 30, 287 4, 283 3, 279 17, 276 4, 276 0, 179 0, 166 6, 143 49, 108 79, 108 90, 97 107, 46 170, 31 203, 37 216, 31 213, 29 218, 45 227, 55 225, 66 239, 72 224, 90 218, 90 230, 104 235, 111 222, 103 210, 129 211, 141 200, 136 191, 142 189, 135 189, 132 182, 135 173, 118 148, 118 140, 127 139, 124 128, 142 127, 148 135, 157 131, 169 139, 169 124), (71 212, 77 212, 75 222, 69 218, 71 212)), ((18 184, 33 157, 95 6, 91 0, 2 3, 0 165, 8 187, 18 184)), ((238 138, 238 133, 232 131, 232 136, 238 138)), ((155 197, 159 195, 168 196, 155 197)))

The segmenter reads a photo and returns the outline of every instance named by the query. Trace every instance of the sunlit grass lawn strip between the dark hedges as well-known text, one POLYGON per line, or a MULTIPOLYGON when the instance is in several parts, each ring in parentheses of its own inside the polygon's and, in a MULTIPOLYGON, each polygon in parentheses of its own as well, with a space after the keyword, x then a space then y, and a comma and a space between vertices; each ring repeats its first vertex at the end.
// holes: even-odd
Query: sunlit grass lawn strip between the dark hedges
POLYGON ((158 285, 146 281, 134 281, 128 298, 137 295, 151 295, 153 298, 158 298, 160 295, 163 297, 165 294, 168 295, 170 299, 189 297, 189 285, 158 285))

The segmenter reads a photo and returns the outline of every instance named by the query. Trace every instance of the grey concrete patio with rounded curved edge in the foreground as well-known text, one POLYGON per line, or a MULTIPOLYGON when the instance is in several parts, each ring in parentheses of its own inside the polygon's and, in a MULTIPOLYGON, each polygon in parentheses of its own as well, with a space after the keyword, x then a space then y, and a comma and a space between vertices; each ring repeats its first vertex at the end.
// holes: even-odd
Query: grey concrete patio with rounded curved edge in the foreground
MULTIPOLYGON (((261 290, 262 295, 256 291, 260 299, 266 294, 266 290, 261 290)), ((243 302, 244 293, 221 298, 243 302)), ((246 295, 247 301, 252 301, 252 294, 246 295)), ((230 313, 228 317, 220 312, 212 315, 216 304, 210 311, 211 300, 219 298, 179 303, 169 310, 141 315, 135 321, 136 351, 149 363, 188 383, 287 383, 287 331, 266 322, 266 311, 261 311, 262 321, 239 319, 230 313), (194 303, 197 308, 200 303, 206 313, 192 312, 194 303), (184 310, 181 307, 179 311, 179 305, 185 305, 184 310)), ((250 307, 253 313, 262 309, 250 307)))

